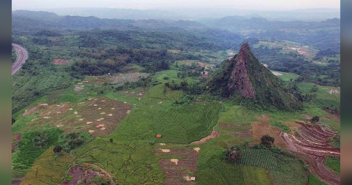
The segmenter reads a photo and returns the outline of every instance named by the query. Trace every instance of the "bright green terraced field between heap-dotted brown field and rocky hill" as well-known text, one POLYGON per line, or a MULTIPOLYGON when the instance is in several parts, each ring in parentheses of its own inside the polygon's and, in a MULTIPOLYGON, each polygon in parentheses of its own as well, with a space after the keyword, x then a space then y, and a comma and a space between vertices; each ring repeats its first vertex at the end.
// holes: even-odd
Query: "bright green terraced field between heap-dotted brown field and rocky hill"
POLYGON ((155 140, 161 143, 191 143, 212 132, 219 113, 219 104, 171 106, 170 101, 143 98, 141 105, 119 125, 111 137, 118 140, 155 140), (160 103, 160 104, 159 104, 160 103), (156 135, 162 135, 156 138, 156 135))

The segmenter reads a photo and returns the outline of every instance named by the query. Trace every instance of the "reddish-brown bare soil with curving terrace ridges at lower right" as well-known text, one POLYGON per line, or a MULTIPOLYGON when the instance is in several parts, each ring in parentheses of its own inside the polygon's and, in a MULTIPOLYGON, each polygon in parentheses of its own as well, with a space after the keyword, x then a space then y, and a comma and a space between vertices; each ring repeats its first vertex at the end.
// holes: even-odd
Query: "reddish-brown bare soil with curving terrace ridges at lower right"
POLYGON ((328 184, 340 184, 340 176, 325 166, 327 156, 340 157, 340 151, 329 145, 329 138, 336 136, 337 133, 327 125, 300 124, 300 136, 284 132, 280 134, 288 149, 303 158, 310 165, 310 171, 320 179, 328 184))

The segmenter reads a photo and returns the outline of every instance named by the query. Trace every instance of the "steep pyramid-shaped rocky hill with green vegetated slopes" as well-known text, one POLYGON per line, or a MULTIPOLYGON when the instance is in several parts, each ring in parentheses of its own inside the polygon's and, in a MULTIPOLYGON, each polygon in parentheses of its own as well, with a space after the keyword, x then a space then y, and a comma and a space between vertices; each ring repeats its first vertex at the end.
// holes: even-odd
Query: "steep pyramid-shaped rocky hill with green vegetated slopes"
POLYGON ((208 81, 209 91, 225 98, 240 95, 263 107, 293 110, 301 107, 283 83, 252 53, 245 43, 237 55, 226 60, 208 81))

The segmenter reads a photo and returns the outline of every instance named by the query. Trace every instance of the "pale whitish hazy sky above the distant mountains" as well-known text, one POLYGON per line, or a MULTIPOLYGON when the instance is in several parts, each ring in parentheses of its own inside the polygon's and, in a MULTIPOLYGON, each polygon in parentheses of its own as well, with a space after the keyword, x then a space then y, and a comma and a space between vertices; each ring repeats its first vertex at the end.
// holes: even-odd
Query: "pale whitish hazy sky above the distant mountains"
POLYGON ((247 10, 293 10, 340 8, 340 0, 12 0, 12 10, 50 8, 234 8, 247 10))

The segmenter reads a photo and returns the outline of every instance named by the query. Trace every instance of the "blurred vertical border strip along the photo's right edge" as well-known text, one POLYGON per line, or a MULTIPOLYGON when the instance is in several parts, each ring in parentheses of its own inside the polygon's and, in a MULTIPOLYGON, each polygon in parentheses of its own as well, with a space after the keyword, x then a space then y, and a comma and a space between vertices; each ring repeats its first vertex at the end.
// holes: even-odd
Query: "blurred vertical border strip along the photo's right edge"
POLYGON ((352 1, 341 0, 341 184, 352 184, 352 1))

